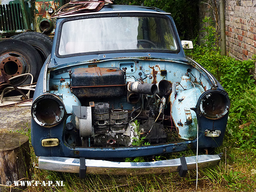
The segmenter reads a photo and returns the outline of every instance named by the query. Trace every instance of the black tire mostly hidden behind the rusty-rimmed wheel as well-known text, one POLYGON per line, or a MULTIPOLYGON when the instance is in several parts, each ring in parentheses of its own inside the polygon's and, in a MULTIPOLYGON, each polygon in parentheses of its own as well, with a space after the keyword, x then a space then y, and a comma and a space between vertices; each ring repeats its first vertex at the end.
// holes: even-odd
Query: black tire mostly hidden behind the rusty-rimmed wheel
POLYGON ((32 47, 34 47, 42 59, 42 66, 48 55, 52 51, 52 38, 38 32, 25 32, 19 35, 15 35, 13 39, 25 41, 32 47))

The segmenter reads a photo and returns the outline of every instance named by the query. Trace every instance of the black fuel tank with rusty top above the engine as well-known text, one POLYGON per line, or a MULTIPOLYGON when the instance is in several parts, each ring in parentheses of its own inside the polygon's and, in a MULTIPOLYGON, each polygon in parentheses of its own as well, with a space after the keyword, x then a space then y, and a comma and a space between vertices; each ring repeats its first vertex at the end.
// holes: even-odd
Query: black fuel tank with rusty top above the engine
POLYGON ((77 68, 72 73, 71 88, 79 98, 121 96, 125 86, 125 75, 118 67, 77 68))

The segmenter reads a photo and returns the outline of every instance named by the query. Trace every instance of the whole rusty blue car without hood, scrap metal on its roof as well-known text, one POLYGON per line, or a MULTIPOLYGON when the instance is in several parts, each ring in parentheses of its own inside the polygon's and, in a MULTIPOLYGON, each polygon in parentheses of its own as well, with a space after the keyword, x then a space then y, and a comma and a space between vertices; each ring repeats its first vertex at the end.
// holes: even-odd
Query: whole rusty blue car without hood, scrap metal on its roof
POLYGON ((52 15, 52 52, 31 109, 36 166, 82 178, 216 165, 227 92, 185 56, 193 44, 180 41, 169 13, 111 3, 74 0, 52 15), (155 160, 186 150, 195 154, 155 160))

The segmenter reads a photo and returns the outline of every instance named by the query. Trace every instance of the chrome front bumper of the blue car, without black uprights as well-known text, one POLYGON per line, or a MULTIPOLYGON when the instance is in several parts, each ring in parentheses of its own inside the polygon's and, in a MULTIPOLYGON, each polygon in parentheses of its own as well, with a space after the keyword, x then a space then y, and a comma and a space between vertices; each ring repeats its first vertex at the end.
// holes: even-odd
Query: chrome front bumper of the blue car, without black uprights
MULTIPOLYGON (((187 170, 196 169, 196 156, 185 157, 187 170)), ((215 166, 221 160, 219 155, 198 155, 198 166, 215 166)), ((180 159, 153 162, 113 162, 106 160, 85 159, 86 174, 99 175, 145 175, 166 172, 179 172, 180 159)), ((82 163, 84 164, 84 162, 82 163)), ((38 168, 57 172, 79 173, 80 159, 67 157, 39 157, 38 168)), ((81 172, 80 172, 81 173, 81 172)))

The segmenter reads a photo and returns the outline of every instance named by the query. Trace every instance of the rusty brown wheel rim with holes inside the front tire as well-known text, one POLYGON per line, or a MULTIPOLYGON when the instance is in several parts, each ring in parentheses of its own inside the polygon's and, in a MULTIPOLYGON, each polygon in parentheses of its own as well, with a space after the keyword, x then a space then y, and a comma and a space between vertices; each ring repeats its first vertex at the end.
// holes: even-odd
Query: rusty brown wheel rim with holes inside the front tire
MULTIPOLYGON (((0 55, 0 70, 7 79, 18 76, 23 73, 29 73, 29 62, 20 52, 8 51, 0 55)), ((19 84, 25 81, 27 76, 22 76, 11 80, 12 84, 19 84)))

